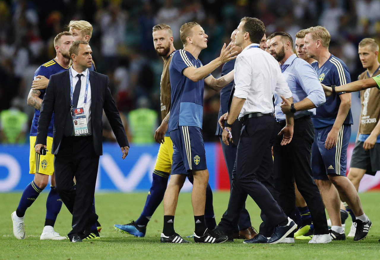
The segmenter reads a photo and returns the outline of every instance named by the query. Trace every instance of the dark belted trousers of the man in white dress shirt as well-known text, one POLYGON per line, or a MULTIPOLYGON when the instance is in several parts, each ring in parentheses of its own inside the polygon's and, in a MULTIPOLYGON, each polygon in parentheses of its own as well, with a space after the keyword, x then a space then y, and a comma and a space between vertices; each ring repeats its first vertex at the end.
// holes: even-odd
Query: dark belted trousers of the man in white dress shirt
POLYGON ((226 233, 233 230, 233 223, 237 222, 247 195, 261 209, 263 224, 260 233, 271 236, 270 232, 276 225, 287 221, 287 216, 274 198, 271 153, 274 128, 275 120, 272 116, 252 117, 243 123, 237 145, 236 167, 232 173, 230 200, 218 225, 226 233))

